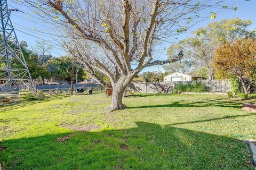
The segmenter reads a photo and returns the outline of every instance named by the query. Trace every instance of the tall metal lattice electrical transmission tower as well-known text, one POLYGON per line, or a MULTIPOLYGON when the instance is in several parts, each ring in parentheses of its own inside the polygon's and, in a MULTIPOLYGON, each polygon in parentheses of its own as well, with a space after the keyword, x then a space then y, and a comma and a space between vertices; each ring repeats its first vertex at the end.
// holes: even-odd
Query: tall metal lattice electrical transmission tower
POLYGON ((35 89, 16 33, 7 0, 0 0, 0 91, 35 89))

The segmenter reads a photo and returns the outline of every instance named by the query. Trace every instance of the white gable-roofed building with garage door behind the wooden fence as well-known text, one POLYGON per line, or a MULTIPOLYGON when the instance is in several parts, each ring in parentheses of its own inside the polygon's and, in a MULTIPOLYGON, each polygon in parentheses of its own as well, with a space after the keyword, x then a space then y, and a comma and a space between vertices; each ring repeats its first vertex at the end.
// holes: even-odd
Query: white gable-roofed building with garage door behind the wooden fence
POLYGON ((203 79, 202 77, 193 77, 189 74, 175 72, 164 77, 164 81, 192 81, 197 80, 198 78, 203 79))

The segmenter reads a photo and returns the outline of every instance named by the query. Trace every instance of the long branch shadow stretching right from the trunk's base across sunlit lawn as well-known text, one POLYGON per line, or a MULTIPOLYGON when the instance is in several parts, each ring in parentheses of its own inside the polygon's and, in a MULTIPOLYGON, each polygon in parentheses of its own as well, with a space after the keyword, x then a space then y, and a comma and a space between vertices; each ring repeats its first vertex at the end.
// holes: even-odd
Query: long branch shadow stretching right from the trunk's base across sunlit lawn
MULTIPOLYGON (((185 100, 182 100, 185 101, 185 100)), ((165 105, 146 105, 146 106, 131 106, 127 107, 131 108, 154 108, 154 107, 232 107, 232 108, 241 108, 242 103, 246 103, 246 100, 233 100, 227 101, 223 99, 214 99, 214 100, 204 100, 204 101, 196 101, 192 103, 182 103, 182 101, 173 101, 171 104, 165 105), (220 101, 222 100, 222 101, 220 101)))

